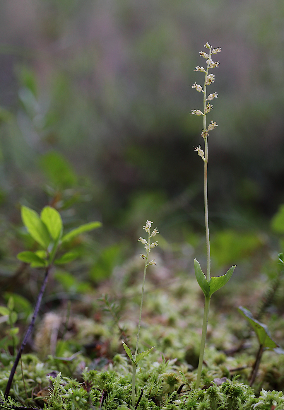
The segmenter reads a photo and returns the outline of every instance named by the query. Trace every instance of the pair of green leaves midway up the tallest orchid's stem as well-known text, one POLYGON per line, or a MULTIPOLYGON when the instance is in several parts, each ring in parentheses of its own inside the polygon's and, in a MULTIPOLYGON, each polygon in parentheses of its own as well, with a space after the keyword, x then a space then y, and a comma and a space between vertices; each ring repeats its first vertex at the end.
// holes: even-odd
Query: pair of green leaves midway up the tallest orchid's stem
POLYGON ((214 292, 216 292, 216 290, 226 285, 228 280, 231 278, 235 267, 236 265, 232 266, 227 271, 227 273, 223 276, 212 277, 208 282, 206 279, 206 276, 202 272, 200 263, 198 262, 198 260, 195 259, 194 260, 195 276, 196 276, 196 280, 198 281, 199 286, 202 289, 202 292, 204 293, 204 296, 207 298, 210 298, 214 294, 214 292))

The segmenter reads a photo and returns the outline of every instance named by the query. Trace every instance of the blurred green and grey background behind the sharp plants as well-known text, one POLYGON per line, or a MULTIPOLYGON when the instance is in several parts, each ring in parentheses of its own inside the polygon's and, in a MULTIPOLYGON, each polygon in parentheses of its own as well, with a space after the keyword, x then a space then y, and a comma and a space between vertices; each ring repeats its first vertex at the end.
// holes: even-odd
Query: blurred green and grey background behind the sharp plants
POLYGON ((218 124, 209 137, 214 269, 246 260, 251 271, 252 256, 258 271, 264 254, 275 261, 284 231, 270 228, 284 202, 283 32, 280 0, 3 0, 2 275, 23 243, 33 246, 20 204, 49 203, 67 227, 102 221, 78 244, 83 262, 73 268, 94 281, 132 255, 145 219, 158 226, 163 252, 188 258, 177 270, 204 254, 203 162, 193 150, 202 120, 189 112, 202 107, 190 85, 204 81, 194 68, 207 40, 222 48, 208 116, 218 124))

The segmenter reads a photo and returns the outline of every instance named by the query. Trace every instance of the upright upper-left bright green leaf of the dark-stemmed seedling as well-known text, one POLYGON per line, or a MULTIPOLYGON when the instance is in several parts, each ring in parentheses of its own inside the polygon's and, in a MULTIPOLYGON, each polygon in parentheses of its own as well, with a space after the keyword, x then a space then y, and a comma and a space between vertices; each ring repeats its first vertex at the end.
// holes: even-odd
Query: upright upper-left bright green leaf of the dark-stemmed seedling
POLYGON ((26 206, 22 206, 21 216, 23 224, 34 240, 43 246, 43 248, 48 248, 50 235, 45 224, 39 218, 39 214, 26 206))

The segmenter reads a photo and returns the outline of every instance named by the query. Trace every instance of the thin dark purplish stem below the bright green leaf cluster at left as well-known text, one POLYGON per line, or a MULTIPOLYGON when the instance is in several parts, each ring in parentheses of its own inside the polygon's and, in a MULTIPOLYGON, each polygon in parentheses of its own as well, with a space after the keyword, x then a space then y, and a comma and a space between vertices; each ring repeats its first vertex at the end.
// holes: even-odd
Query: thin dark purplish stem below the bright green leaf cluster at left
POLYGON ((25 337, 24 337, 23 342, 20 346, 18 354, 16 355, 15 362, 14 362, 13 367, 11 369, 11 373, 10 373, 9 380, 8 380, 6 390, 5 390, 5 398, 6 399, 9 396, 9 392, 10 392, 10 389, 11 389, 14 374, 15 374, 16 368, 18 366, 18 362, 20 360, 20 355, 22 354, 22 352, 25 348, 25 345, 27 344, 27 341, 28 341, 28 339, 29 339, 29 337, 32 333, 33 328, 34 328, 34 323, 36 321, 37 314, 39 313, 39 307, 41 305, 41 299, 43 297, 43 293, 45 291, 45 287, 46 287, 46 284, 48 282, 48 275, 50 273, 50 268, 51 268, 51 266, 49 265, 45 270, 45 276, 44 276, 44 279, 43 279, 43 283, 41 285, 41 290, 39 291, 39 294, 38 294, 38 297, 37 297, 37 300, 36 300, 36 305, 34 307, 34 314, 32 315, 31 323, 30 323, 29 327, 27 328, 27 332, 25 334, 25 337))

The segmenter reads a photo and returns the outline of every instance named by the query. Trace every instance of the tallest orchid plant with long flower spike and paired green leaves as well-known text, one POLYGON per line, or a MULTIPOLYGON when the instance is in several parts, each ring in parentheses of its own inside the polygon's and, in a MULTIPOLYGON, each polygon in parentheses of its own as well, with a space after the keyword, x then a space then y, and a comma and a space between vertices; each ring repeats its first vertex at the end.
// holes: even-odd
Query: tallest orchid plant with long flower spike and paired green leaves
POLYGON ((205 231, 206 231, 206 246, 207 246, 207 276, 201 270, 199 262, 195 259, 194 260, 194 269, 195 269, 195 276, 196 279, 204 293, 205 302, 204 302, 204 314, 203 314, 203 324, 202 324, 202 337, 201 337, 201 345, 200 345, 200 355, 199 355, 199 363, 198 363, 198 373, 196 379, 195 387, 198 389, 201 379, 201 371, 202 371, 202 362, 203 362, 203 355, 204 355, 204 347, 205 347, 205 340, 207 334, 207 323, 208 323, 208 315, 209 315, 209 306, 210 306, 210 299, 211 296, 216 290, 223 287, 229 278, 232 276, 234 268, 236 266, 232 266, 224 276, 220 276, 217 278, 211 278, 210 269, 211 269, 211 259, 210 259, 210 241, 209 241, 209 219, 208 219, 208 192, 207 192, 207 166, 208 166, 208 137, 209 131, 213 131, 218 125, 216 121, 213 120, 209 123, 208 127, 206 125, 206 115, 213 109, 213 105, 210 105, 209 101, 214 100, 214 98, 218 98, 218 94, 214 92, 213 94, 209 94, 206 98, 206 91, 207 86, 212 84, 215 80, 214 74, 209 74, 209 68, 218 68, 219 62, 214 62, 211 57, 213 54, 217 54, 221 52, 221 48, 213 48, 210 44, 207 43, 204 45, 207 49, 207 52, 200 51, 200 57, 207 59, 207 68, 203 68, 200 66, 195 67, 195 71, 200 71, 200 73, 205 73, 204 78, 204 89, 202 89, 201 85, 196 84, 196 82, 191 85, 192 88, 195 88, 196 91, 203 93, 203 112, 200 109, 192 109, 191 115, 203 116, 203 129, 201 132, 201 137, 204 139, 204 151, 202 150, 201 146, 195 148, 198 155, 204 161, 204 213, 205 213, 205 231), (207 102, 208 101, 208 102, 207 102))

